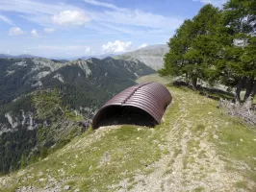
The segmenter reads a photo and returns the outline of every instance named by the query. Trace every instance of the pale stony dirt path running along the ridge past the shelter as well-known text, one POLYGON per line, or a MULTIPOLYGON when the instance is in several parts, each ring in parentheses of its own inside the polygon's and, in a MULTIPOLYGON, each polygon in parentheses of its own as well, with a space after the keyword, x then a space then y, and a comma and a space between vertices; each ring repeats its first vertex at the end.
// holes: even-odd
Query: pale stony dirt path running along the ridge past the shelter
MULTIPOLYGON (((221 160, 209 141, 210 136, 218 139, 215 135, 218 119, 205 118, 211 111, 201 117, 189 112, 209 100, 196 95, 188 100, 188 96, 180 92, 172 94, 177 98, 174 103, 178 103, 178 112, 165 121, 168 153, 152 165, 151 174, 137 176, 137 183, 129 191, 245 191, 236 186, 243 177, 225 170, 227 162, 221 160)), ((254 187, 255 183, 250 183, 250 188, 254 187)), ((121 188, 119 191, 128 190, 121 188)))

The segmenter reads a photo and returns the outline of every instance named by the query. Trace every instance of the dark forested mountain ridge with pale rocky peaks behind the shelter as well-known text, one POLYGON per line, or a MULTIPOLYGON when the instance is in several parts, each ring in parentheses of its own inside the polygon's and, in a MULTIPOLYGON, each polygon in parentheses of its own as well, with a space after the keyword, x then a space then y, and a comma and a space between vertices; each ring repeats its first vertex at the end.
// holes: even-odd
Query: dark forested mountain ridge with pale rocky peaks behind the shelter
POLYGON ((70 108, 99 107, 118 91, 136 84, 139 77, 154 72, 140 60, 0 59, 0 107, 38 88, 64 86, 72 87, 86 100, 91 100, 88 103, 66 100, 70 108))

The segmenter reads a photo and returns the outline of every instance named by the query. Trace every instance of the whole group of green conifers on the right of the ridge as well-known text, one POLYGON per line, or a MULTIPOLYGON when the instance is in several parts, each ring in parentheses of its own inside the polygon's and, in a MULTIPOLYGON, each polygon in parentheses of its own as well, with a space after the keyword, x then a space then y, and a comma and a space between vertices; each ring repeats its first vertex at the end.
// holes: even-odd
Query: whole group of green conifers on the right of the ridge
POLYGON ((163 76, 185 76, 209 84, 221 83, 233 88, 240 102, 243 88, 256 95, 256 12, 255 1, 229 0, 222 10, 204 6, 192 20, 185 20, 169 39, 169 53, 163 76))

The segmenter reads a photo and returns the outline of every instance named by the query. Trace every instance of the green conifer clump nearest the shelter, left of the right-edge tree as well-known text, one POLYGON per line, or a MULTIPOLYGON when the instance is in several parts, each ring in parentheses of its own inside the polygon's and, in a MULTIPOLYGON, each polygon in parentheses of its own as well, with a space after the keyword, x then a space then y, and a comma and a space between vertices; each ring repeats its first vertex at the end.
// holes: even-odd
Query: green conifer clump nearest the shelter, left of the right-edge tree
POLYGON ((185 20, 169 39, 169 53, 160 74, 186 75, 196 85, 197 78, 213 82, 216 79, 214 57, 218 56, 217 26, 220 13, 212 5, 204 6, 192 20, 185 20))

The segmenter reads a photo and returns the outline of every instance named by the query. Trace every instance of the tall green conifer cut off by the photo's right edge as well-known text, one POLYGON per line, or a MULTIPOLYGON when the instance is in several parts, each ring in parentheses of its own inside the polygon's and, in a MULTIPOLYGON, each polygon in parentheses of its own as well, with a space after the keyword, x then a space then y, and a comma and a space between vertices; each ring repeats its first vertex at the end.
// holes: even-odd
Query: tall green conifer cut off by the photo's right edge
POLYGON ((236 100, 239 103, 243 87, 246 89, 244 101, 255 95, 255 13, 255 1, 251 0, 230 0, 223 9, 225 36, 230 40, 223 43, 225 61, 220 68, 224 71, 221 74, 222 80, 228 81, 222 83, 236 86, 236 100))

